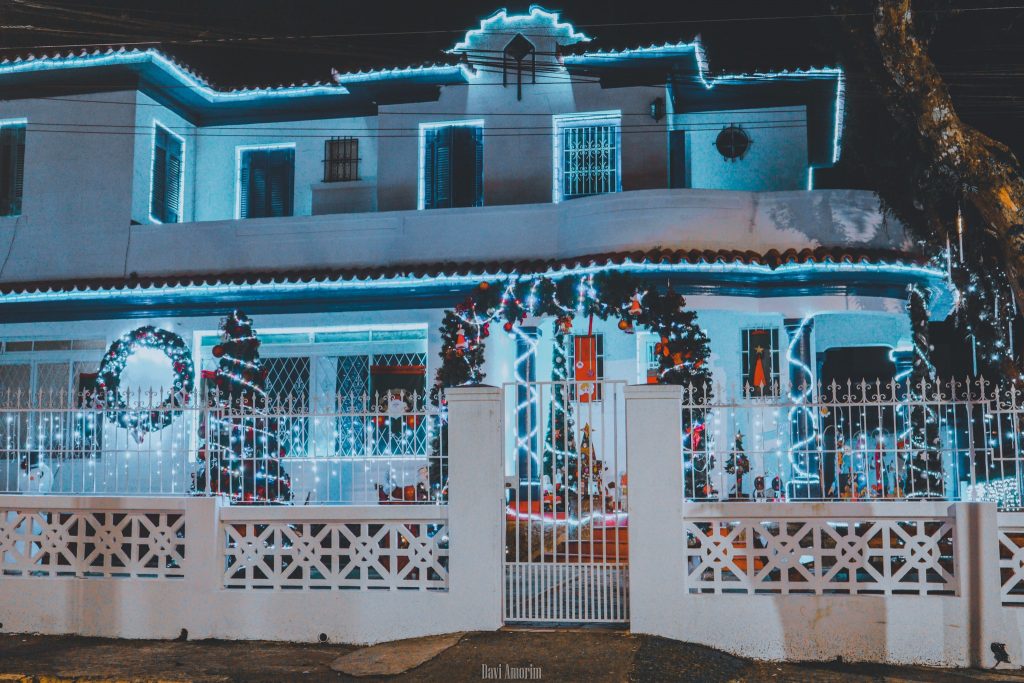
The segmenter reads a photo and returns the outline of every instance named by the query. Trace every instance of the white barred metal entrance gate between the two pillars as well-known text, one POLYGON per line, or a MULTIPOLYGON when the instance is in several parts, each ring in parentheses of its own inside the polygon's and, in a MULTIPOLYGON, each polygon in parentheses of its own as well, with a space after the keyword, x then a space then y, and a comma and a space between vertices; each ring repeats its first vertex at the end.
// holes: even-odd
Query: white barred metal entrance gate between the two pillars
POLYGON ((505 386, 506 622, 629 622, 625 387, 505 386))

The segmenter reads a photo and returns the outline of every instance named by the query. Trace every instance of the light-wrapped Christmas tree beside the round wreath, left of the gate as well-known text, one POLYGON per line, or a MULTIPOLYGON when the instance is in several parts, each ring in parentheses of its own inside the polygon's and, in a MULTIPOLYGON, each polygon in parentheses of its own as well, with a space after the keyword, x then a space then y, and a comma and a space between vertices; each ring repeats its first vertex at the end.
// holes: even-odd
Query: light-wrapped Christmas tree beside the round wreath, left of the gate
POLYGON ((281 466, 287 454, 278 438, 278 420, 267 415, 259 338, 252 321, 241 311, 225 317, 221 330, 221 341, 213 347, 218 368, 203 373, 212 410, 200 425, 203 466, 196 490, 209 486, 211 493, 239 503, 288 503, 292 484, 281 466))

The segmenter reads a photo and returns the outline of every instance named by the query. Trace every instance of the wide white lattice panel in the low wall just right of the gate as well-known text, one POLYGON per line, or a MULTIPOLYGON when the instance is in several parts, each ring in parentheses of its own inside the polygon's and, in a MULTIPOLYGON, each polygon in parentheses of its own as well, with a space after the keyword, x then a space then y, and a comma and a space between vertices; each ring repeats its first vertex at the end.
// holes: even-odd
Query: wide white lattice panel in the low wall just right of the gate
POLYGON ((687 519, 690 593, 956 595, 949 518, 687 519))

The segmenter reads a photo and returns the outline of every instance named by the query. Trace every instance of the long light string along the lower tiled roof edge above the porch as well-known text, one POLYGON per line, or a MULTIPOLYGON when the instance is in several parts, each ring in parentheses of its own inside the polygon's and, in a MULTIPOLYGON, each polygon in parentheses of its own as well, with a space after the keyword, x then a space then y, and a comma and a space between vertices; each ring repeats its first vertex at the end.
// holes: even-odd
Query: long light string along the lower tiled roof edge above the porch
MULTIPOLYGON (((525 273, 530 276, 551 278, 560 280, 566 276, 589 275, 604 272, 608 268, 616 268, 622 271, 649 273, 649 274, 671 274, 673 272, 708 272, 708 273, 749 273, 758 275, 802 275, 810 272, 866 272, 879 274, 902 274, 915 278, 925 278, 933 281, 933 289, 941 291, 943 288, 949 290, 946 280, 946 271, 940 268, 933 268, 924 265, 912 265, 906 263, 786 263, 776 267, 761 265, 756 263, 649 263, 644 261, 634 261, 626 259, 622 263, 608 265, 581 265, 574 267, 549 268, 547 270, 525 273)), ((310 292, 345 292, 368 289, 397 289, 416 284, 433 284, 437 287, 452 286, 473 286, 479 285, 485 279, 507 279, 518 273, 497 270, 495 272, 477 271, 459 275, 396 275, 389 278, 377 278, 373 280, 334 280, 321 282, 282 282, 267 283, 265 285, 153 285, 133 286, 124 288, 98 288, 89 290, 74 289, 71 291, 47 291, 47 292, 17 292, 0 295, 0 304, 3 303, 36 303, 46 301, 77 301, 92 299, 128 298, 144 293, 147 297, 181 296, 191 294, 224 295, 232 293, 247 293, 254 291, 266 291, 276 293, 310 293, 310 292)), ((937 299, 936 297, 935 299, 937 299)), ((935 300, 933 299, 933 300, 935 300)))

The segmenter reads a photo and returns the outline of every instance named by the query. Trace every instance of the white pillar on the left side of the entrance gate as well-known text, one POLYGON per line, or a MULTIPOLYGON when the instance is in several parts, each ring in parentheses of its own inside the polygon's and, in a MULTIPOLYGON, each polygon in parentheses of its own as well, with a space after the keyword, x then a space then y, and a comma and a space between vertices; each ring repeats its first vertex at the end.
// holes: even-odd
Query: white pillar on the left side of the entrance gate
POLYGON ((449 591, 466 630, 502 626, 504 411, 497 387, 445 391, 449 408, 449 591))

